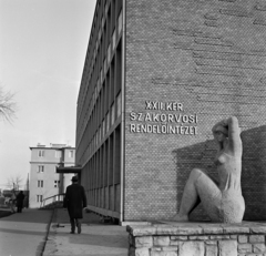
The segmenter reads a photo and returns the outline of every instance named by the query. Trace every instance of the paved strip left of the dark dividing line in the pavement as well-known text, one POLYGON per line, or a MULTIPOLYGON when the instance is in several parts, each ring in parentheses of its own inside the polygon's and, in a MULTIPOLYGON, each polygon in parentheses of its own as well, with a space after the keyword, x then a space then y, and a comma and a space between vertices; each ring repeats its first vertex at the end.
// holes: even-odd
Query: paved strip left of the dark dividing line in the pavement
POLYGON ((41 256, 52 211, 23 209, 0 218, 1 256, 41 256))

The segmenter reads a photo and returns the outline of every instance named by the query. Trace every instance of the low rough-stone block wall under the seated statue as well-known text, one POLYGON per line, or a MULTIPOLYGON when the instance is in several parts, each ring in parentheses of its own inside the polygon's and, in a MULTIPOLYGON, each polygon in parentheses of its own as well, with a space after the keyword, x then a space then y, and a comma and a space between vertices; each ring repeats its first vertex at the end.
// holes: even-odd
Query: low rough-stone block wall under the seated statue
POLYGON ((126 226, 129 256, 266 256, 266 223, 126 226))

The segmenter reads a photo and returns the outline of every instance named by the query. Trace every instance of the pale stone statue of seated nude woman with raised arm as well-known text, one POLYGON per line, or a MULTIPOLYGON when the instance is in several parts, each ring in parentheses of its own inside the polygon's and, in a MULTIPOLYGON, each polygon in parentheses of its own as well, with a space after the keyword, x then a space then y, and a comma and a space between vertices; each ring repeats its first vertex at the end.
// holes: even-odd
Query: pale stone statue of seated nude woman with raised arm
POLYGON ((200 168, 192 170, 185 185, 178 214, 173 221, 187 222, 190 213, 200 204, 212 222, 241 223, 245 212, 242 196, 242 140, 235 116, 223 120, 212 129, 218 151, 215 165, 218 183, 200 168))

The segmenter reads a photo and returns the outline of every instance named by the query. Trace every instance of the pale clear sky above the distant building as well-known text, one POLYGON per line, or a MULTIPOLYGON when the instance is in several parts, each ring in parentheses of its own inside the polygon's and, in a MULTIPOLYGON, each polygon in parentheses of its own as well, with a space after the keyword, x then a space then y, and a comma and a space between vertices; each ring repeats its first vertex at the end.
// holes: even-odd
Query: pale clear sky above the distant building
POLYGON ((0 89, 16 116, 0 120, 0 188, 30 172, 30 146, 75 146, 78 93, 96 0, 0 0, 0 89))

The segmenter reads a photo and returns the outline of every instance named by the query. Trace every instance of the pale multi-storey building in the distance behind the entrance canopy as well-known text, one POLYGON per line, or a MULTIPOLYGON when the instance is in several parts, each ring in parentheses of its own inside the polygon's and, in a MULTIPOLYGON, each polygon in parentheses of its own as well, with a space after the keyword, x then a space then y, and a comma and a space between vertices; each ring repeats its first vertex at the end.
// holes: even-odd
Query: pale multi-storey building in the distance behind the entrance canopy
POLYGON ((57 166, 72 166, 75 149, 65 144, 38 144, 30 147, 29 207, 40 207, 44 198, 64 193, 73 174, 58 174, 57 166))

